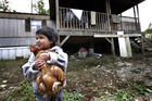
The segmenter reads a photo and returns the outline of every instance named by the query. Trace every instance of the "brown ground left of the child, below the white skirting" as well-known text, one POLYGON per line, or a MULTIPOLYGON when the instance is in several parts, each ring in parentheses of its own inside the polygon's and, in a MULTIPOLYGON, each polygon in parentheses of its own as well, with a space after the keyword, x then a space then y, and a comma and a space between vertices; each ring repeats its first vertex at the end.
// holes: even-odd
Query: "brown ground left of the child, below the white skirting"
POLYGON ((3 84, 3 80, 7 80, 10 85, 17 85, 17 83, 23 80, 22 65, 27 60, 0 61, 0 85, 3 84))

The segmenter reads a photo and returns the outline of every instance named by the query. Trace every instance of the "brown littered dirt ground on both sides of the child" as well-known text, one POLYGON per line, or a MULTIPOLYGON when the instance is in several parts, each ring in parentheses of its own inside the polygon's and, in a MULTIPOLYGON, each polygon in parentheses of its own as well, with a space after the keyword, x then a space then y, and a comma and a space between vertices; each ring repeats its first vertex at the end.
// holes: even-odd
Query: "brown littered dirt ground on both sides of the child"
MULTIPOLYGON (((21 67, 26 61, 0 61, 0 97, 24 81, 21 67)), ((94 97, 100 98, 102 96, 100 92, 103 91, 127 89, 131 83, 141 83, 152 89, 151 73, 150 55, 131 59, 112 55, 103 55, 101 59, 72 56, 68 62, 65 89, 68 92, 77 91, 85 96, 84 101, 90 101, 94 97)))

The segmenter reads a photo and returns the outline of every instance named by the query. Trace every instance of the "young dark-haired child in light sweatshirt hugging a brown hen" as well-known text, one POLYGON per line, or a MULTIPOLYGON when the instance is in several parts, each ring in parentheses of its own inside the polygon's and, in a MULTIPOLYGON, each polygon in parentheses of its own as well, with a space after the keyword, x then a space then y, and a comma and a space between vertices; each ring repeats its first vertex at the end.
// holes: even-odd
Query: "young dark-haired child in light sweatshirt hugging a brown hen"
POLYGON ((36 75, 41 70, 42 65, 47 62, 49 64, 56 64, 62 67, 63 72, 66 74, 67 67, 67 54, 56 46, 58 34, 49 27, 40 28, 36 31, 36 46, 42 50, 50 49, 54 52, 42 53, 40 56, 43 59, 41 61, 35 61, 34 53, 30 55, 28 62, 22 66, 23 74, 33 79, 34 92, 37 97, 37 101, 63 101, 63 88, 59 93, 50 99, 43 98, 43 96, 37 91, 36 75))

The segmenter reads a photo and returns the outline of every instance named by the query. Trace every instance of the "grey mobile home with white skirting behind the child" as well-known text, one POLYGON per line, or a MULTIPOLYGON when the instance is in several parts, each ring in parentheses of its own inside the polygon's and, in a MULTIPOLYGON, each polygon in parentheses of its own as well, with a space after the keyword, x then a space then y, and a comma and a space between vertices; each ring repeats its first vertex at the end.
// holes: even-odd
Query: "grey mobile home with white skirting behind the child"
POLYGON ((35 31, 42 26, 53 27, 49 15, 0 12, 0 60, 28 58, 35 31))

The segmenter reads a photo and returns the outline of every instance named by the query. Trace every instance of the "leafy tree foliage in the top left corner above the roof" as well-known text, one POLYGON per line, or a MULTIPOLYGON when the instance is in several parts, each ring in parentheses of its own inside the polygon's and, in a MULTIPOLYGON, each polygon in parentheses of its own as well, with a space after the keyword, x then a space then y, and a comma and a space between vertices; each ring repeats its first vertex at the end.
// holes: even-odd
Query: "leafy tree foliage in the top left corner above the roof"
POLYGON ((0 1, 0 11, 11 12, 11 9, 9 8, 9 1, 8 0, 0 1))

